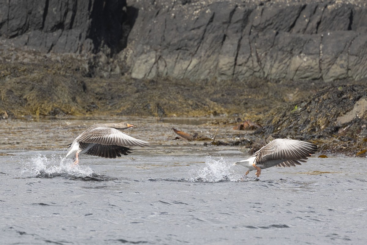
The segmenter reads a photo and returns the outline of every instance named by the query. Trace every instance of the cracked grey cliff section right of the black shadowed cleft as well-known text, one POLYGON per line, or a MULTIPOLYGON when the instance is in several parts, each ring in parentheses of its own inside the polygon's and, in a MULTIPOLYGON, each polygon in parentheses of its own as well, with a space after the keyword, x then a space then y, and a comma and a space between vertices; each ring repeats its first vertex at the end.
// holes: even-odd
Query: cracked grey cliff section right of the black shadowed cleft
POLYGON ((364 1, 129 1, 134 78, 366 78, 364 1))

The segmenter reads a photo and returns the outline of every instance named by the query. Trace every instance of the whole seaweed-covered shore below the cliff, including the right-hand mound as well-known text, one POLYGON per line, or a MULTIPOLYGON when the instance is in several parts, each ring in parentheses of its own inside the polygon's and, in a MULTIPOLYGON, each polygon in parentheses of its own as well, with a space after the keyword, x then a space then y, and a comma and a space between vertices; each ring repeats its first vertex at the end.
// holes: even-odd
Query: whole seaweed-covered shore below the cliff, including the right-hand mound
POLYGON ((37 64, 0 64, 3 119, 24 115, 220 116, 228 119, 211 120, 213 125, 233 127, 249 119, 261 128, 248 131, 250 137, 243 140, 212 145, 258 149, 272 138, 296 138, 318 144, 320 152, 365 156, 364 81, 90 77, 86 59, 63 55, 54 60, 52 55, 37 64))

